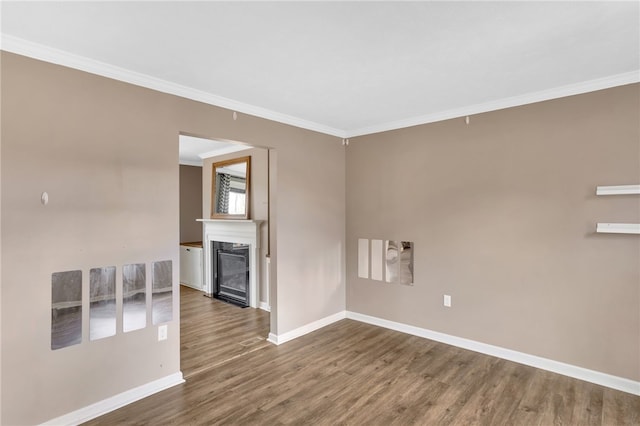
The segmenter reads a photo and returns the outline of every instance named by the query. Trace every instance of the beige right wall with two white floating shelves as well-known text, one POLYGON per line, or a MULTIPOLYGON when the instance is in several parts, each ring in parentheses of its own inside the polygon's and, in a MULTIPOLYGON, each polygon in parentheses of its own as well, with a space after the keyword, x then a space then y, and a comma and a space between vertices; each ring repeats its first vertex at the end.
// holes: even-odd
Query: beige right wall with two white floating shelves
POLYGON ((640 379, 639 86, 351 139, 347 309, 640 379), (415 242, 415 285, 357 277, 357 239, 415 242), (453 306, 443 307, 443 295, 453 306))

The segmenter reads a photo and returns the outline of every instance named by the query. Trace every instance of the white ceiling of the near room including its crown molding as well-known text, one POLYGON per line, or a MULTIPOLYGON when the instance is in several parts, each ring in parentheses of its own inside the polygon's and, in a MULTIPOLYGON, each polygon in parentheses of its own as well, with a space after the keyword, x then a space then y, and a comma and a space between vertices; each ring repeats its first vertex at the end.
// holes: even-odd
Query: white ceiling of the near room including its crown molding
POLYGON ((637 82, 639 5, 2 1, 2 49, 351 137, 637 82))

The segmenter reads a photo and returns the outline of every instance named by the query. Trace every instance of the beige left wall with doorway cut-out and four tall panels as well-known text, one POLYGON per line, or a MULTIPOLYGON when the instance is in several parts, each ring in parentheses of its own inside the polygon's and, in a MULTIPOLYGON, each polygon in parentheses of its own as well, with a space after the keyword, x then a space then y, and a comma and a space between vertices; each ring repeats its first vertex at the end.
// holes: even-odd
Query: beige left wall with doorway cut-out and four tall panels
POLYGON ((170 259, 178 289, 180 132, 274 150, 272 331, 345 309, 337 138, 6 52, 1 66, 1 424, 40 423, 179 371, 177 297, 167 341, 148 326, 89 342, 85 313, 81 344, 49 347, 52 272, 170 259))

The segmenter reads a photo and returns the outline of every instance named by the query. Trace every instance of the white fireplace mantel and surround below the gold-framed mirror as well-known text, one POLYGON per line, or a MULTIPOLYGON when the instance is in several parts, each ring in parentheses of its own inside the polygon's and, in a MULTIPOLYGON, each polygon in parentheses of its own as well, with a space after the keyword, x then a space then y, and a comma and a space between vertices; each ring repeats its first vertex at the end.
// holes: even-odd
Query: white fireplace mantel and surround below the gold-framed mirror
POLYGON ((241 243, 249 245, 249 306, 258 307, 258 256, 260 225, 263 220, 196 219, 202 222, 202 248, 204 256, 204 289, 213 295, 211 243, 241 243))

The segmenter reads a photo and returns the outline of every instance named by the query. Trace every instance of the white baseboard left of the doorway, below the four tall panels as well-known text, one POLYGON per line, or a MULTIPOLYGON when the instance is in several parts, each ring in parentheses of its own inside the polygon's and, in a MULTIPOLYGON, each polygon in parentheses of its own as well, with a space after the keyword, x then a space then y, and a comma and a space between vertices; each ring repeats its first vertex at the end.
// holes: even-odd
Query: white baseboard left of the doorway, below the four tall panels
POLYGON ((154 380, 153 382, 138 386, 137 388, 119 393, 118 395, 103 399, 95 404, 91 404, 63 416, 56 417, 55 419, 51 419, 42 424, 57 426, 78 425, 102 416, 103 414, 107 414, 113 410, 117 410, 118 408, 124 407, 127 404, 138 401, 139 399, 146 398, 154 393, 179 385, 180 383, 184 383, 182 372, 171 374, 170 376, 166 376, 162 379, 154 380))

